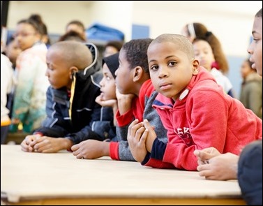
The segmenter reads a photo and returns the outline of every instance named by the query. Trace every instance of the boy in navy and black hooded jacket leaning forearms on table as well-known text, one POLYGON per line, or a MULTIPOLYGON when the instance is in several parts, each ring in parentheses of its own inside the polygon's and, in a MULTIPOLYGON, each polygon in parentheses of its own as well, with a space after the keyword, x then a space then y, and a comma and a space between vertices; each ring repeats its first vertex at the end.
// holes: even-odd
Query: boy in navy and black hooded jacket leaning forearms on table
POLYGON ((96 61, 87 45, 77 41, 61 41, 50 47, 47 118, 23 140, 24 152, 59 152, 87 139, 105 140, 99 135, 105 130, 100 122, 111 121, 113 114, 112 108, 101 108, 95 102, 100 94, 98 82, 103 78, 96 61))

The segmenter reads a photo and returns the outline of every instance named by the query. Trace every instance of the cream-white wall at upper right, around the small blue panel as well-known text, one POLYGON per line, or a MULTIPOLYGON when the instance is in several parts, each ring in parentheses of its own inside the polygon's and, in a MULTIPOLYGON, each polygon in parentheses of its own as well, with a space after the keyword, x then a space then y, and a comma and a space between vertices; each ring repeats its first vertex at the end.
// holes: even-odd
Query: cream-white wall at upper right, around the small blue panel
POLYGON ((185 24, 200 22, 219 38, 227 55, 244 57, 262 1, 134 1, 133 8, 133 23, 149 25, 151 38, 180 34, 185 24))

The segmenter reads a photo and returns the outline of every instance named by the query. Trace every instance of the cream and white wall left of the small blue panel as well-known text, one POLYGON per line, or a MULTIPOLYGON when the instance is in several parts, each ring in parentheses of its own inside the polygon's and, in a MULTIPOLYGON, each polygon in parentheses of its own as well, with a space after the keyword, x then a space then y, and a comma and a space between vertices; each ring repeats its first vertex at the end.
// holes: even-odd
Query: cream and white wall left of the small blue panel
POLYGON ((38 13, 52 34, 63 34, 66 24, 80 20, 85 27, 100 22, 114 27, 131 38, 133 1, 10 1, 8 29, 19 20, 38 13))

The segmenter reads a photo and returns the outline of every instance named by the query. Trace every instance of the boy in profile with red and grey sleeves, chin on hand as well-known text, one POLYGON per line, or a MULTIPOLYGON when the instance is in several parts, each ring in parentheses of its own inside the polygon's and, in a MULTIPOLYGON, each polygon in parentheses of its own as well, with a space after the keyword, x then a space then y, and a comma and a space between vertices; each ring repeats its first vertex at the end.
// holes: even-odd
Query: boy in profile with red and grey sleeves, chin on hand
POLYGON ((152 103, 157 95, 149 76, 146 51, 152 39, 134 39, 123 45, 119 52, 119 68, 115 71, 117 86, 118 142, 87 141, 74 145, 71 149, 77 158, 96 159, 110 156, 118 161, 135 161, 128 144, 128 126, 134 119, 147 118, 155 127, 158 138, 167 142, 166 130, 160 122, 152 103), (88 144, 91 142, 92 144, 88 144), (86 148, 85 148, 86 147, 86 148), (96 152, 93 148, 96 149, 96 152))

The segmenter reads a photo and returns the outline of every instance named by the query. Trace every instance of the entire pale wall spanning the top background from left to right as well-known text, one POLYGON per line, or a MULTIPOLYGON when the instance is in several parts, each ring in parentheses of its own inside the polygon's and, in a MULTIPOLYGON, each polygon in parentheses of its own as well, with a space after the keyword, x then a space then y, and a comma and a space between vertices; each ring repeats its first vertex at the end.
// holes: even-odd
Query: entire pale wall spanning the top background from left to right
POLYGON ((63 34, 66 24, 81 20, 86 27, 101 22, 131 38, 132 24, 149 25, 150 37, 180 33, 189 22, 202 22, 219 38, 227 55, 246 56, 253 17, 262 1, 10 1, 8 28, 39 13, 48 30, 63 34))

